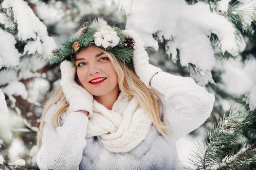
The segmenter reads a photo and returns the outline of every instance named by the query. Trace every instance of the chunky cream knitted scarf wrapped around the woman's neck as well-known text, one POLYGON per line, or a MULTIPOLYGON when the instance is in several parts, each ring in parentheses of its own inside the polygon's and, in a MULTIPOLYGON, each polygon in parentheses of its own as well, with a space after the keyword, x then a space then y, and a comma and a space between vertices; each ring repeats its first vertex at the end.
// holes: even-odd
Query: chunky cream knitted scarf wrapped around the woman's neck
POLYGON ((108 151, 125 153, 141 143, 151 123, 135 97, 120 92, 112 110, 93 100, 86 137, 100 136, 102 146, 108 151))

